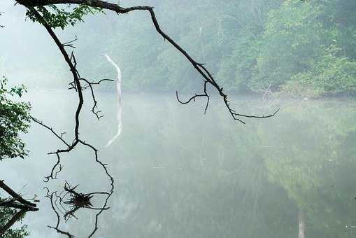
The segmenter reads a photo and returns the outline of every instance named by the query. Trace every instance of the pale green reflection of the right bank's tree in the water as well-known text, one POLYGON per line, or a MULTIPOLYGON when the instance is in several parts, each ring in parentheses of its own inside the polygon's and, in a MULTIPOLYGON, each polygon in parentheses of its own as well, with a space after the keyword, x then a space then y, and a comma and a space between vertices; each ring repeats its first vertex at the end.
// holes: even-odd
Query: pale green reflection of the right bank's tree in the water
POLYGON ((299 232, 305 229, 306 237, 347 237, 355 221, 356 133, 350 105, 286 106, 281 118, 285 123, 261 133, 263 144, 276 148, 262 154, 269 180, 295 202, 299 232))

